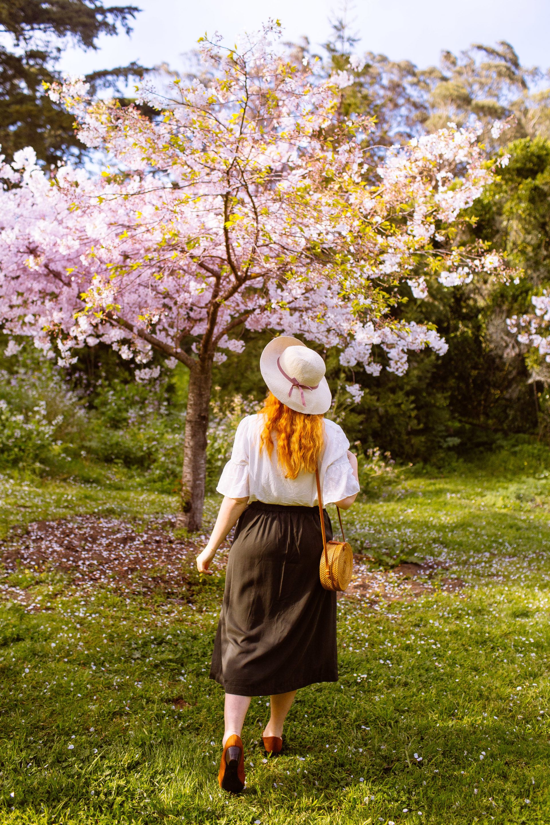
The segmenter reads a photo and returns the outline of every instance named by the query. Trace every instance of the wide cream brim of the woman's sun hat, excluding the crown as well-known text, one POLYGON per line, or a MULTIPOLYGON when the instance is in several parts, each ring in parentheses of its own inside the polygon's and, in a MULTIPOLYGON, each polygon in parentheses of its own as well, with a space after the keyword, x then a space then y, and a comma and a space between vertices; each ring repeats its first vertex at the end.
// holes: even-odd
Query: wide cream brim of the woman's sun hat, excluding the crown
POLYGON ((297 413, 322 415, 327 412, 332 402, 331 390, 327 384, 327 379, 323 376, 317 389, 303 390, 304 406, 302 396, 298 389, 291 391, 292 384, 284 377, 277 366, 277 359, 287 347, 305 346, 306 345, 299 341, 298 338, 293 338, 289 335, 281 335, 278 338, 274 338, 261 353, 260 371, 263 380, 275 395, 275 398, 279 398, 287 407, 296 410, 297 413))

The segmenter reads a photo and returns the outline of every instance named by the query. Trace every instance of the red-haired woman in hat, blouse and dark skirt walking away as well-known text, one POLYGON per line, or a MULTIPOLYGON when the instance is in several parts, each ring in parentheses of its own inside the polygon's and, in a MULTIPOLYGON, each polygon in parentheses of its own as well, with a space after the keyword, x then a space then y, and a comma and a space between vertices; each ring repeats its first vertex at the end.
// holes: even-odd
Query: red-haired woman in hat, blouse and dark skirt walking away
MULTIPOLYGON (((337 681, 336 592, 319 579, 322 501, 347 508, 359 493, 357 460, 331 406, 325 364, 297 338, 281 336, 262 352, 270 390, 257 415, 237 428, 218 492, 223 502, 209 543, 197 556, 209 573, 216 550, 237 524, 210 677, 225 690, 219 785, 244 788, 242 724, 251 696, 270 695, 262 735, 268 753, 283 746, 283 723, 300 687, 337 681)), ((327 540, 331 521, 324 512, 327 540)))

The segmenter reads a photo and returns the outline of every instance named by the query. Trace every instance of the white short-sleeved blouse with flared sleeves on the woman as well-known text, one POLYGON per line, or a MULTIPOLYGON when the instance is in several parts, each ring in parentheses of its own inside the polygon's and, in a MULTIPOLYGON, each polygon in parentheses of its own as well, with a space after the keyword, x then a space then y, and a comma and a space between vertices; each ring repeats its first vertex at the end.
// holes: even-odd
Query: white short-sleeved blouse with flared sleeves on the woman
MULTIPOLYGON (((235 433, 231 459, 223 468, 218 493, 229 498, 247 498, 266 504, 317 504, 317 483, 314 473, 301 472, 296 479, 285 479, 284 469, 277 460, 276 441, 271 458, 260 451, 263 416, 249 415, 242 419, 235 433)), ((340 502, 359 493, 360 487, 347 457, 350 442, 338 424, 324 419, 325 446, 319 465, 323 504, 340 502)))

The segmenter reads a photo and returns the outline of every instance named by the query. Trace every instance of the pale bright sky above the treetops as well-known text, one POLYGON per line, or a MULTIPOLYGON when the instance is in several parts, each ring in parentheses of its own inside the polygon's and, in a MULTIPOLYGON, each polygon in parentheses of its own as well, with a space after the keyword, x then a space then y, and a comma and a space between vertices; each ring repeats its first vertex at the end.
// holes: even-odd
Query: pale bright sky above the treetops
MULTIPOLYGON (((233 42, 239 31, 253 31, 270 16, 280 18, 286 39, 308 35, 318 45, 327 39, 328 17, 338 8, 338 0, 131 2, 143 9, 134 33, 103 38, 95 53, 68 50, 63 71, 86 73, 130 60, 144 65, 166 61, 181 68, 181 53, 192 49, 204 31, 218 30, 233 42)), ((362 37, 358 51, 383 52, 425 66, 437 62, 442 49, 509 40, 525 65, 550 66, 550 0, 356 0, 349 16, 362 37)))

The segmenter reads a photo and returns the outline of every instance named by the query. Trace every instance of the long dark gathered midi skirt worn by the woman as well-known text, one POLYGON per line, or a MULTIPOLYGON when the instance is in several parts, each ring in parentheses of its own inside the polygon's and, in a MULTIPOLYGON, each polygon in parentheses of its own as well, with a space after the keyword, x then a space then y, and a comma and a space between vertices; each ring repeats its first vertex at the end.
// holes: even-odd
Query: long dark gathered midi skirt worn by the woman
POLYGON ((321 586, 321 555, 317 507, 252 502, 242 513, 210 669, 226 693, 265 696, 338 680, 336 593, 321 586))

